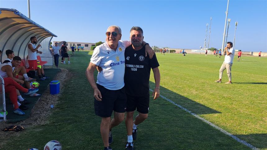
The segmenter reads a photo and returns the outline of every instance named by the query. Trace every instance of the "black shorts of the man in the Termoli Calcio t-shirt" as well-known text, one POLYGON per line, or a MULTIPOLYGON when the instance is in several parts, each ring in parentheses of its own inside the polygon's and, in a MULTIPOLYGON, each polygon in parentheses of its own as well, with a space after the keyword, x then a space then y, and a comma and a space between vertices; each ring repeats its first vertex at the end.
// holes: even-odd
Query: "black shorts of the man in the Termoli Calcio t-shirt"
POLYGON ((127 94, 126 111, 131 112, 137 109, 139 113, 148 114, 149 94, 147 96, 130 96, 127 94))

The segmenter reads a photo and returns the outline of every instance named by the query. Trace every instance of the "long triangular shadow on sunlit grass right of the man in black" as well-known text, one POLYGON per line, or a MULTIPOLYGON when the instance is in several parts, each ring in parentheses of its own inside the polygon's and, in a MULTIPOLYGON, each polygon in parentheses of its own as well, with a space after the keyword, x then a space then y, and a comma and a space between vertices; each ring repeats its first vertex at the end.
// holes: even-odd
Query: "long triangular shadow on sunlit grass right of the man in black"
MULTIPOLYGON (((155 83, 149 81, 150 87, 155 87, 155 83)), ((167 88, 161 87, 161 92, 164 93, 163 96, 166 96, 166 98, 170 99, 171 101, 175 102, 178 105, 181 105, 182 107, 188 109, 194 114, 218 114, 221 113, 219 111, 216 111, 214 109, 211 109, 205 105, 202 105, 196 101, 193 101, 187 97, 184 97, 178 93, 175 93, 173 91, 170 91, 167 88)), ((179 108, 179 107, 177 107, 179 108)))

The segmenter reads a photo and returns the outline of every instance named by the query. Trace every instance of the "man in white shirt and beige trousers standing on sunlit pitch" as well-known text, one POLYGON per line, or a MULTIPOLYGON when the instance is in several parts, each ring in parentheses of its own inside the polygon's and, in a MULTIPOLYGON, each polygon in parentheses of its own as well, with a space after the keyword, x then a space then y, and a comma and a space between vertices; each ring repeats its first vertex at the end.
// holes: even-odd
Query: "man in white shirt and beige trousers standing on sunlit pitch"
POLYGON ((226 82, 225 84, 232 84, 231 67, 233 65, 234 52, 235 50, 233 49, 233 43, 227 42, 227 46, 225 47, 223 52, 223 54, 226 55, 224 57, 224 62, 220 68, 219 80, 216 80, 215 82, 217 83, 222 82, 223 72, 226 69, 228 75, 228 82, 226 82))

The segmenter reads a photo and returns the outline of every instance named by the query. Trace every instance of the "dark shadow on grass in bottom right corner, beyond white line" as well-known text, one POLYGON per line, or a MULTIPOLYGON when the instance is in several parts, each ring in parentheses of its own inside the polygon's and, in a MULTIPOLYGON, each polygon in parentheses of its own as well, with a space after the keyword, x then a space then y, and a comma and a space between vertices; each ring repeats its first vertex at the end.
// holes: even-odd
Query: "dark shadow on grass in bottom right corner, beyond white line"
POLYGON ((256 148, 267 148, 267 133, 248 134, 248 135, 235 135, 255 146, 256 148), (251 141, 250 141, 251 140, 251 141), (255 143, 255 144, 254 144, 255 143))

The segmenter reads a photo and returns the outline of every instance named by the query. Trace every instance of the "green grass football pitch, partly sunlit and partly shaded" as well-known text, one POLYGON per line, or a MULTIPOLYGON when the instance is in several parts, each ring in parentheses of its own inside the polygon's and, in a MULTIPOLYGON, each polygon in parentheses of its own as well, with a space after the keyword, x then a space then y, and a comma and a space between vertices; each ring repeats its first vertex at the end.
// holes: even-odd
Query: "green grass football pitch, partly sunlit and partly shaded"
MULTIPOLYGON (((92 52, 76 52, 70 65, 60 64, 71 77, 61 91, 49 123, 13 135, 1 149, 43 149, 58 140, 62 149, 103 149, 101 118, 94 114, 93 90, 85 77, 92 52), (14 142, 16 141, 16 142, 14 142)), ((69 53, 70 54, 70 53, 69 53)), ((267 59, 237 58, 233 84, 215 83, 224 57, 157 53, 161 72, 160 94, 256 148, 267 149, 267 59)), ((95 72, 95 76, 97 72, 95 72)), ((150 87, 155 87, 153 72, 150 87)), ((136 150, 149 149, 250 149, 163 98, 150 101, 148 119, 138 126, 136 150)), ((124 149, 127 135, 122 122, 112 130, 115 150, 124 149)), ((4 137, 0 137, 1 138, 4 137)))

